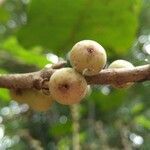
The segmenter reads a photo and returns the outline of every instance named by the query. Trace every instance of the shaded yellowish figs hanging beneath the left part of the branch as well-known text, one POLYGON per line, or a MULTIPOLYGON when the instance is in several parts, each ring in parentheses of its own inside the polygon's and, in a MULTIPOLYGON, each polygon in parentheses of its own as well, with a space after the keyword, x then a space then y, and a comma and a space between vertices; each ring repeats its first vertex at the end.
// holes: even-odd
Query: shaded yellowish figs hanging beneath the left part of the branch
POLYGON ((45 95, 42 91, 35 89, 24 89, 20 92, 11 90, 10 96, 19 103, 28 104, 35 111, 47 111, 53 102, 50 95, 45 95))

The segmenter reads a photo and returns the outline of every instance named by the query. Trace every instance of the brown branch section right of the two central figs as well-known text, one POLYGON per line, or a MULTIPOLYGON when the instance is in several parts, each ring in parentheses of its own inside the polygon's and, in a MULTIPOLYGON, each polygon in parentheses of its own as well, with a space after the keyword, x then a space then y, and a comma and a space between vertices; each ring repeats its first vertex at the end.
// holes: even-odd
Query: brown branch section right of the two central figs
POLYGON ((98 75, 86 77, 89 84, 123 84, 150 80, 150 65, 138 66, 132 69, 104 69, 98 75))

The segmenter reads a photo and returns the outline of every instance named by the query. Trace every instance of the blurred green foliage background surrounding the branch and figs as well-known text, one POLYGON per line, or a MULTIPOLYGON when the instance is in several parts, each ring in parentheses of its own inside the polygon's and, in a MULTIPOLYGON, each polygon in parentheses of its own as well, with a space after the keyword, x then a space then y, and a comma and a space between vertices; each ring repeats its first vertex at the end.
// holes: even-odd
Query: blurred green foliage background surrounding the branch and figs
MULTIPOLYGON (((100 42, 108 63, 150 63, 149 18, 150 0, 0 1, 0 73, 43 68, 57 58, 52 54, 65 58, 82 39, 100 42)), ((149 150, 149 89, 150 82, 120 90, 93 86, 77 120, 70 107, 55 103, 48 112, 33 112, 0 89, 0 149, 73 149, 78 123, 83 150, 149 150)))

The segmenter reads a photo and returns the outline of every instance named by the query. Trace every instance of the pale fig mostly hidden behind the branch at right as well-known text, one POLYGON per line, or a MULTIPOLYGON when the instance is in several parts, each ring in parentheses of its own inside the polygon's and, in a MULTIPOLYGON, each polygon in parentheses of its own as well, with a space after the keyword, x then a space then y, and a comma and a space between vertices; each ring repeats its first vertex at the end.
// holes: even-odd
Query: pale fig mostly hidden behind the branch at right
MULTIPOLYGON (((130 62, 126 61, 126 60, 116 60, 114 62, 112 62, 108 68, 113 69, 113 68, 134 68, 133 64, 131 64, 130 62)), ((133 85, 133 83, 125 83, 125 84, 113 84, 112 86, 115 88, 128 88, 131 85, 133 85)))

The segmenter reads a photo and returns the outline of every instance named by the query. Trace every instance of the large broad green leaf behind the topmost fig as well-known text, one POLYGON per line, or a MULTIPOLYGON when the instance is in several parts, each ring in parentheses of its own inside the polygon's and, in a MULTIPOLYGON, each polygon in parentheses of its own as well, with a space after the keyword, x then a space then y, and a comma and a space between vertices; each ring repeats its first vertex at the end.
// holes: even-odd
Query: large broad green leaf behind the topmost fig
POLYGON ((137 33, 140 6, 140 0, 32 0, 28 22, 17 36, 26 47, 40 45, 57 54, 93 39, 108 52, 124 55, 137 33))

